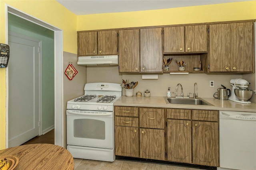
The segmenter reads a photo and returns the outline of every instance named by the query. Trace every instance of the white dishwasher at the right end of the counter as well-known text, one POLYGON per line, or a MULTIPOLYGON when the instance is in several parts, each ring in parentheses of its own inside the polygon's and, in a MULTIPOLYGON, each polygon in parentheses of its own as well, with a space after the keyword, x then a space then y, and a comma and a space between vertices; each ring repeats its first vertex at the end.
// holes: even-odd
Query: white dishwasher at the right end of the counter
POLYGON ((256 113, 219 111, 220 168, 256 170, 256 113))

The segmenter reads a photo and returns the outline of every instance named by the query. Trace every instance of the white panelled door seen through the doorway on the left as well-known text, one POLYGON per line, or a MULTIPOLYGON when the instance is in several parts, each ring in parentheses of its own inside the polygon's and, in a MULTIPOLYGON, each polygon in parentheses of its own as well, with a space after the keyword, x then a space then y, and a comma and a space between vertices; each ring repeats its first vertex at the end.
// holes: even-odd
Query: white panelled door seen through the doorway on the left
POLYGON ((8 63, 8 147, 39 135, 40 41, 10 34, 8 63))

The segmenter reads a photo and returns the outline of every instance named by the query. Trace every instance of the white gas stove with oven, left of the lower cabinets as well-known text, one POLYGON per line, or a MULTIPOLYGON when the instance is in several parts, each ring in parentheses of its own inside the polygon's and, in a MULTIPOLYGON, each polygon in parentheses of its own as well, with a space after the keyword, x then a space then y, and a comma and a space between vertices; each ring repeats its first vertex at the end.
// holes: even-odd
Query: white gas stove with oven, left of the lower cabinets
POLYGON ((74 158, 113 162, 115 83, 87 83, 84 96, 67 103, 67 149, 74 158))

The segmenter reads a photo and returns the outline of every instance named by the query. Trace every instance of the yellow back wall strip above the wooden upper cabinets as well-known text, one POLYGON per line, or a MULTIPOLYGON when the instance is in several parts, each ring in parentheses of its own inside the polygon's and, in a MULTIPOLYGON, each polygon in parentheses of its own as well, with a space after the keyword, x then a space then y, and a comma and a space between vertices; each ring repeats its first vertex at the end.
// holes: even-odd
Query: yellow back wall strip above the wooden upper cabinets
POLYGON ((93 14, 77 17, 77 29, 110 29, 203 23, 214 21, 250 20, 256 18, 256 1, 234 2, 216 5, 93 14))

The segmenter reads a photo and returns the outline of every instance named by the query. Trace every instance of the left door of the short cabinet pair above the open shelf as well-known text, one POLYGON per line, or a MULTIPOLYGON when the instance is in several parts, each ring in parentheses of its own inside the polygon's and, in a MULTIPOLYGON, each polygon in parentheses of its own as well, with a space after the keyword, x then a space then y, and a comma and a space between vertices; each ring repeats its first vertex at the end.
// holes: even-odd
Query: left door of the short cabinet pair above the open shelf
POLYGON ((164 27, 164 53, 184 52, 184 27, 164 27))

